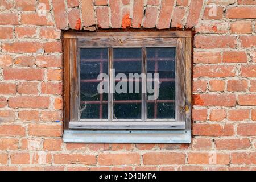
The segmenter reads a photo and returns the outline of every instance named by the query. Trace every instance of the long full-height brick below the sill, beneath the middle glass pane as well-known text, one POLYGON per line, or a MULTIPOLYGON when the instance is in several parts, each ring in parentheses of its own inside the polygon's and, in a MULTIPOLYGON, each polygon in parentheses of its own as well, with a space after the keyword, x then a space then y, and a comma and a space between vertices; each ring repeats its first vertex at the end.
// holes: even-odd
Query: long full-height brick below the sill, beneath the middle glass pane
POLYGON ((125 154, 99 154, 98 164, 100 166, 139 164, 141 156, 136 153, 125 154))

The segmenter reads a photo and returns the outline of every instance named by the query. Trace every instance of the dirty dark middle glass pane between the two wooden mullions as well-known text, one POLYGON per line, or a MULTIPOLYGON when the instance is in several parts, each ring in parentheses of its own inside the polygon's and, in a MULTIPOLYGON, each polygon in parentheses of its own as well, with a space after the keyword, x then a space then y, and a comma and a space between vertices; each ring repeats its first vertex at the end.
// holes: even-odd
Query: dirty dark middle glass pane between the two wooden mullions
POLYGON ((141 78, 129 79, 129 73, 141 75, 141 48, 114 48, 113 53, 116 76, 113 119, 141 119, 141 78))

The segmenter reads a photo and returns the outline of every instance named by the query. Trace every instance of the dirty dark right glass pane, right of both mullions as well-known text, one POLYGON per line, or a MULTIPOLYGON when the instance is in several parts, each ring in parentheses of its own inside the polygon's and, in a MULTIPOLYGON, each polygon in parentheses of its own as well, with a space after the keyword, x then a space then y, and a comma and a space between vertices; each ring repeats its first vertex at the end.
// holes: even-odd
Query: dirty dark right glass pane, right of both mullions
POLYGON ((150 73, 152 78, 158 74, 159 85, 152 80, 151 89, 147 88, 147 118, 174 119, 175 48, 147 48, 147 74, 150 73))

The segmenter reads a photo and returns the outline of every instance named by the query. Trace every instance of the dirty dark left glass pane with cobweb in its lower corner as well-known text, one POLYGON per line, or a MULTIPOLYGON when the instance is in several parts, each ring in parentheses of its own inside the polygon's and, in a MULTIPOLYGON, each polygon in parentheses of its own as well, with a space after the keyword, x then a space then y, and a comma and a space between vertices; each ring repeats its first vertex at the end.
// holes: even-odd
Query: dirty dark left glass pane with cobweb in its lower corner
MULTIPOLYGON (((108 93, 98 92, 97 77, 108 74, 108 48, 80 49, 80 118, 107 119, 108 93)), ((107 85, 107 83, 106 83, 107 85)), ((104 88, 104 87, 103 87, 104 88)))

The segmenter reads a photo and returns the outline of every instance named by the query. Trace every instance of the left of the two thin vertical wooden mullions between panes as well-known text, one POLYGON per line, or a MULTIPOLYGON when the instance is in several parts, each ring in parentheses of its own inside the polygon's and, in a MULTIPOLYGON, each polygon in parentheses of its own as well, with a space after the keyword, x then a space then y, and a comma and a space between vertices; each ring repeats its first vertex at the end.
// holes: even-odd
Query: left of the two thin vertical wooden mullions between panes
POLYGON ((113 75, 113 48, 109 47, 109 93, 108 93, 108 120, 113 121, 113 93, 114 93, 114 75, 113 75))

